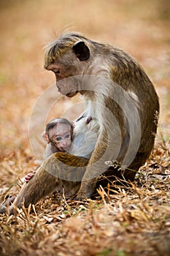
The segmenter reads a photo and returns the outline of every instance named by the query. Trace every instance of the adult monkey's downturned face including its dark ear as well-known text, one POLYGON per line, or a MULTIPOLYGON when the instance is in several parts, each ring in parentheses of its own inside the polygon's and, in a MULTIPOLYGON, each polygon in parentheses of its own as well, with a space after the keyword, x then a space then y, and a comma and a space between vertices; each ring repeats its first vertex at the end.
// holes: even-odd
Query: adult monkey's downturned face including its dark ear
MULTIPOLYGON (((55 74, 58 91, 67 97, 74 97, 81 91, 78 75, 84 75, 85 65, 90 58, 90 50, 85 42, 74 42, 73 45, 66 45, 62 50, 58 44, 53 45, 45 57, 45 69, 51 70, 55 74), (53 56, 50 56, 53 53, 53 56), (85 63, 86 62, 86 63, 85 63)), ((62 46, 63 47, 63 46, 62 46)))

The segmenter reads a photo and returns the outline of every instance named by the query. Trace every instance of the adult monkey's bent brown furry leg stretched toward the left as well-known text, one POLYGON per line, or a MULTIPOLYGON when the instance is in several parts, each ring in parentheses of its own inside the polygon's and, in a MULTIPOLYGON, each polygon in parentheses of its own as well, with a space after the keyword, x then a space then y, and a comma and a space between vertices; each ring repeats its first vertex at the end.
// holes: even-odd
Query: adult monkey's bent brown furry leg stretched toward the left
MULTIPOLYGON (((38 170, 33 178, 24 184, 12 206, 9 214, 14 214, 15 208, 20 208, 22 203, 28 207, 30 203, 37 203, 42 197, 49 195, 62 183, 61 178, 70 181, 70 189, 74 189, 76 179, 80 179, 85 173, 88 159, 74 157, 66 153, 55 153, 49 157, 38 170), (59 178, 58 178, 59 177, 59 178)), ((0 206, 0 213, 6 212, 4 206, 0 206)))

